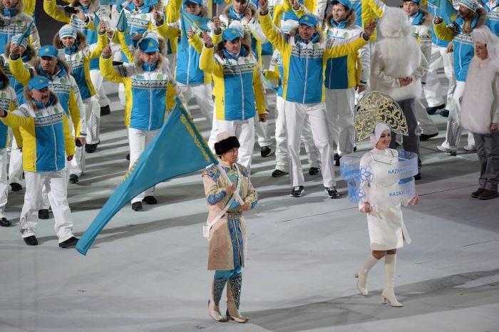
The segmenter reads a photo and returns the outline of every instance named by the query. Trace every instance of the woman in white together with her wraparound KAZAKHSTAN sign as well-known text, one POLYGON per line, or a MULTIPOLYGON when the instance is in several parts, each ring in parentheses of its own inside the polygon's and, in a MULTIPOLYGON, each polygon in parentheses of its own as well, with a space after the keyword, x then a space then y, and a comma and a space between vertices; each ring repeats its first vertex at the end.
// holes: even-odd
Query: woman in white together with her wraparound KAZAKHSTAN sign
POLYGON ((372 252, 355 274, 359 278, 357 288, 367 296, 367 274, 379 259, 385 257, 383 304, 402 306, 393 292, 396 251, 403 247, 403 240, 411 243, 411 238, 403 223, 401 203, 415 205, 419 202, 412 177, 418 172, 418 158, 411 152, 389 148, 391 134, 385 123, 376 124, 370 140, 373 149, 360 160, 360 172, 364 175, 360 190, 365 196, 359 202, 359 209, 367 214, 372 252))

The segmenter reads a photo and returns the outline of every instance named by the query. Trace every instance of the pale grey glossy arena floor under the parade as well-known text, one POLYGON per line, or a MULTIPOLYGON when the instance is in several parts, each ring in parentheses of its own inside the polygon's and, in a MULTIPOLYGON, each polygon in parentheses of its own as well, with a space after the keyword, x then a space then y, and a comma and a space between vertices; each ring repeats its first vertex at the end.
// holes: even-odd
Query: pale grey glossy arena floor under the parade
MULTIPOLYGON (((80 182, 69 185, 78 236, 128 168, 123 111, 110 97, 102 143, 87 155, 80 182)), ((192 114, 207 135, 207 121, 195 108, 192 114)), ((356 289, 354 271, 369 252, 366 217, 356 205, 326 197, 307 165, 304 196, 289 197, 289 177, 270 177, 274 155, 260 157, 255 145, 259 205, 246 214, 241 302, 249 323, 208 316, 207 209, 196 172, 158 185, 158 205, 124 207, 87 256, 58 248, 53 219, 39 222, 38 247, 26 246, 18 225, 24 190, 9 192, 14 226, 0 229, 0 331, 499 331, 499 200, 470 198, 477 157, 437 152, 446 119, 433 119, 441 134, 421 143, 421 203, 404 210, 413 243, 398 251, 395 291, 403 308, 381 305, 382 262, 371 271, 369 297, 356 289)), ((345 193, 345 182, 338 187, 345 193)))

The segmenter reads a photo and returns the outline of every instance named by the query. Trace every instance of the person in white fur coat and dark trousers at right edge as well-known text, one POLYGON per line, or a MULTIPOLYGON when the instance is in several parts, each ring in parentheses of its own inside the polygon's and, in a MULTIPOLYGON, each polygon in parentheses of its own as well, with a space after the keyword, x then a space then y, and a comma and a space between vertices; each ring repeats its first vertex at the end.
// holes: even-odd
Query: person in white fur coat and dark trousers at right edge
POLYGON ((486 26, 472 33, 471 60, 461 105, 461 125, 475 138, 480 187, 471 197, 498 197, 499 182, 499 40, 486 26))

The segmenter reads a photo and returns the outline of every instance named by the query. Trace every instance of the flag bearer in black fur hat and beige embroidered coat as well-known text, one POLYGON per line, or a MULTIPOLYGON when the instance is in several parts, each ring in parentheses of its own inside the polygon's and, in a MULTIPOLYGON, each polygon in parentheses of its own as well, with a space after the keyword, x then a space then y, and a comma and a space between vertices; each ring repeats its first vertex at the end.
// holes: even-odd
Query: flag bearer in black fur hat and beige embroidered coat
POLYGON ((218 165, 210 165, 202 173, 208 203, 208 220, 204 229, 210 241, 208 269, 215 270, 209 301, 210 316, 215 321, 234 320, 246 323, 248 318, 239 312, 242 274, 246 263, 247 239, 243 211, 257 205, 257 192, 253 189, 244 166, 237 164, 240 143, 229 133, 217 135, 215 152, 218 165), (227 318, 222 318, 218 307, 227 284, 227 318))

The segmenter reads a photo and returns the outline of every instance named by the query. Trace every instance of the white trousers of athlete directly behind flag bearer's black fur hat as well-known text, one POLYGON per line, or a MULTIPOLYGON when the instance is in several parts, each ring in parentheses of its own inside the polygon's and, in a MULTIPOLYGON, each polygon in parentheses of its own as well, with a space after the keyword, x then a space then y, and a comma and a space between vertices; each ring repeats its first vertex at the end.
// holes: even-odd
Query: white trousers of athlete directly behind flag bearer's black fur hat
POLYGON ((254 145, 254 117, 247 120, 217 120, 217 128, 219 133, 226 131, 237 137, 241 145, 237 162, 245 166, 249 172, 254 145))

